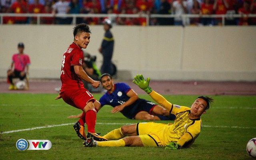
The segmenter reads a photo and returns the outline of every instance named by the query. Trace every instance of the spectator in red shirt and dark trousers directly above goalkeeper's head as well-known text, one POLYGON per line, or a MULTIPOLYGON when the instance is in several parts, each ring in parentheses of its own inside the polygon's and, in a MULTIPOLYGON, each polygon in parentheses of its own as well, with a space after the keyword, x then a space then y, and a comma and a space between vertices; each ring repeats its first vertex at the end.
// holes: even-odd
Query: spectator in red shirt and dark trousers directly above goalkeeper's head
MULTIPOLYGON (((210 15, 213 14, 213 5, 210 4, 210 0, 204 0, 201 4, 200 9, 201 15, 210 15)), ((201 18, 201 24, 205 25, 213 25, 212 18, 201 18)))

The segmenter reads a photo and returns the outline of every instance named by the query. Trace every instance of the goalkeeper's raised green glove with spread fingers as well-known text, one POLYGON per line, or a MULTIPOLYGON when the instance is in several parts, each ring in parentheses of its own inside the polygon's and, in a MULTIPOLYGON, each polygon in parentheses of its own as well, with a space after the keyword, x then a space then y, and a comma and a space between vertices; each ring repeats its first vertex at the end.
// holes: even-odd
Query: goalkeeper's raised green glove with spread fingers
POLYGON ((149 85, 150 78, 148 77, 147 80, 145 81, 144 77, 142 74, 137 74, 134 77, 134 80, 132 81, 134 84, 138 85, 142 90, 144 90, 147 94, 152 92, 152 88, 150 88, 149 85))

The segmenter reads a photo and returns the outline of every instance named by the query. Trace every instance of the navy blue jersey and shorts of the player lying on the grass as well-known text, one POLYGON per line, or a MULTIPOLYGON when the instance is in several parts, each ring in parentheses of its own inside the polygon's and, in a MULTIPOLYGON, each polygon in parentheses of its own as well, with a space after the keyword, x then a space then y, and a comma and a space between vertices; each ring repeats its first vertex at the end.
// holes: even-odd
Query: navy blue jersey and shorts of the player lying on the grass
MULTIPOLYGON (((115 106, 124 104, 124 102, 126 102, 130 98, 126 95, 127 92, 129 92, 130 90, 131 90, 130 86, 128 86, 125 83, 114 84, 114 92, 112 92, 112 93, 106 92, 100 98, 101 106, 110 105, 112 107, 115 107, 115 106)), ((150 101, 147 101, 144 99, 138 99, 130 106, 126 106, 120 112, 127 118, 133 119, 138 112, 140 112, 140 111, 150 112, 150 110, 155 105, 156 104, 154 104, 150 101)))

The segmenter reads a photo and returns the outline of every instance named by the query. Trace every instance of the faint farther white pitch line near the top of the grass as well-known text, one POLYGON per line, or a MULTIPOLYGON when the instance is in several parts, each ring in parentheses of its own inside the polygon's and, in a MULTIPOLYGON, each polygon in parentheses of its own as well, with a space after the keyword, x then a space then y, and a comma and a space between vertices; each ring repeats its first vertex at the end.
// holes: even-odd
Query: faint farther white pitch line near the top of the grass
MULTIPOLYGON (((65 106, 67 104, 0 104, 0 106, 50 106, 50 107, 58 107, 65 106)), ((67 105, 68 106, 68 105, 67 105)), ((211 109, 247 109, 247 110, 256 110, 256 107, 211 107, 211 109)))

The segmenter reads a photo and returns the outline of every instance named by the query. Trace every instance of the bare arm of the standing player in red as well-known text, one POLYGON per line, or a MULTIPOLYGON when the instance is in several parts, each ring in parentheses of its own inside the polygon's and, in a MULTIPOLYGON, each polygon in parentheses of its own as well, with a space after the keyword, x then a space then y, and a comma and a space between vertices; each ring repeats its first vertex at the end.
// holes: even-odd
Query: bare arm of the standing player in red
POLYGON ((92 86, 94 88, 98 88, 98 86, 100 85, 100 81, 96 81, 96 80, 93 80, 92 78, 90 78, 86 74, 86 72, 84 71, 82 66, 78 66, 78 65, 73 65, 73 66, 74 66, 74 71, 78 77, 80 77, 82 80, 85 80, 86 82, 92 84, 92 86))

